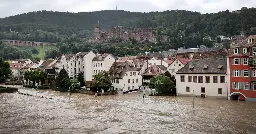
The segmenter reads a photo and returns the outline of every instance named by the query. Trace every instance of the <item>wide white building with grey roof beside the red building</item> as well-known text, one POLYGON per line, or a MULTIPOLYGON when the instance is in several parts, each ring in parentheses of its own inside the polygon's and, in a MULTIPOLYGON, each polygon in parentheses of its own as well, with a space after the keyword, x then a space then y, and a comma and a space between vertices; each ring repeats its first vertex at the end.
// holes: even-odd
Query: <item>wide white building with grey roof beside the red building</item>
POLYGON ((226 59, 200 59, 189 62, 176 74, 178 96, 227 97, 226 59))

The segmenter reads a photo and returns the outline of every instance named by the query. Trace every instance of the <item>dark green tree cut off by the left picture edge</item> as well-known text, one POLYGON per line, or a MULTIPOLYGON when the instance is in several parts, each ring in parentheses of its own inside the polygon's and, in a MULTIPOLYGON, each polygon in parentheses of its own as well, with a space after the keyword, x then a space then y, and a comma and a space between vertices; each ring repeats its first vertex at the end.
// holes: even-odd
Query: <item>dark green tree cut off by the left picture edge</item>
POLYGON ((0 57, 0 83, 5 82, 6 79, 10 78, 11 74, 12 72, 9 63, 5 62, 3 58, 0 57))

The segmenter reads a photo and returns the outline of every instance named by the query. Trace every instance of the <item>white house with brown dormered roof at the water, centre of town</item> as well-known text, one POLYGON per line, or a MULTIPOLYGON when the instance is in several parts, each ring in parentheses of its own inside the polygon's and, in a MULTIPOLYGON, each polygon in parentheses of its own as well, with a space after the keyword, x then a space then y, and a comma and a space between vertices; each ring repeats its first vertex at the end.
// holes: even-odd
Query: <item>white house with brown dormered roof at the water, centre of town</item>
POLYGON ((118 91, 139 89, 142 86, 140 70, 130 62, 115 62, 109 71, 114 88, 118 91))

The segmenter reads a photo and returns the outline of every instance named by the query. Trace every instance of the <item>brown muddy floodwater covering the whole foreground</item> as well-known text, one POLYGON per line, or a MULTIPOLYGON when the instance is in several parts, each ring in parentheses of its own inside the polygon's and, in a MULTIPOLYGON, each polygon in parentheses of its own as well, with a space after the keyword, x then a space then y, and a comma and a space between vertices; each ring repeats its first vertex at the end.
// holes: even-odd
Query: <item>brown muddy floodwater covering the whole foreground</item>
POLYGON ((256 133, 256 103, 195 98, 193 110, 190 97, 20 91, 37 97, 0 94, 0 134, 256 133))

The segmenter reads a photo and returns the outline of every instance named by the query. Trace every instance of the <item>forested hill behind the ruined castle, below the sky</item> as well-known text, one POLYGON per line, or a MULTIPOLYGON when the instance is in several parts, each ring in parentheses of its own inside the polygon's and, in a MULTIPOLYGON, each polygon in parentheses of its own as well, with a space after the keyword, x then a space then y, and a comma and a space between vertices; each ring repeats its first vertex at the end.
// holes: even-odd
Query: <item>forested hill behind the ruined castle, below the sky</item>
POLYGON ((115 25, 154 28, 159 35, 168 35, 170 43, 176 43, 178 47, 187 45, 183 40, 200 45, 198 40, 208 35, 256 34, 256 9, 242 8, 211 14, 183 10, 150 13, 121 10, 81 13, 37 11, 0 19, 0 39, 59 42, 71 36, 88 38, 98 22, 103 29, 115 25))

